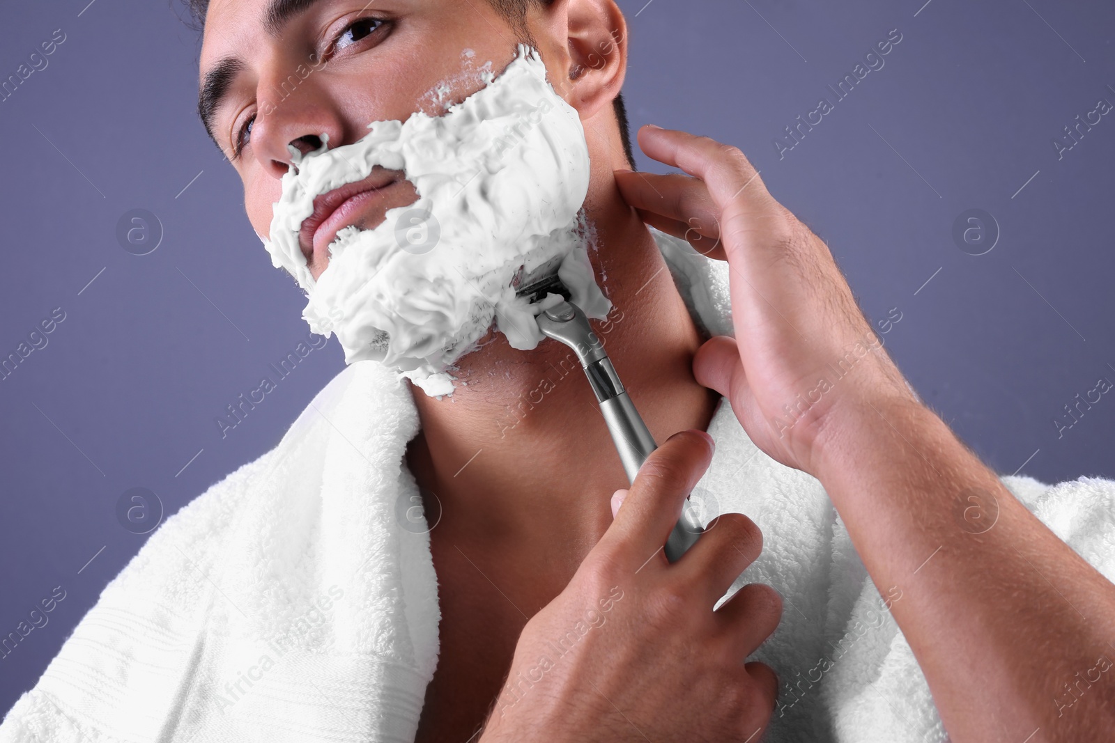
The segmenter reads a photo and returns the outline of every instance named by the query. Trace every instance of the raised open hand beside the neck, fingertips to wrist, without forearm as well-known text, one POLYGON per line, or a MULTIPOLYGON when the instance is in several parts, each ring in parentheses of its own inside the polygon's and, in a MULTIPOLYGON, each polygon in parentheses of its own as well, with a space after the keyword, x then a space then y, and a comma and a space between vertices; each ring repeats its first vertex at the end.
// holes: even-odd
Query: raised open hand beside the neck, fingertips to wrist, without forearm
POLYGON ((817 476, 814 447, 842 408, 920 404, 828 247, 775 201, 739 149, 652 126, 639 130, 639 146, 688 175, 619 170, 623 198, 647 224, 728 262, 735 339, 705 343, 694 373, 731 401, 763 451, 817 476))

